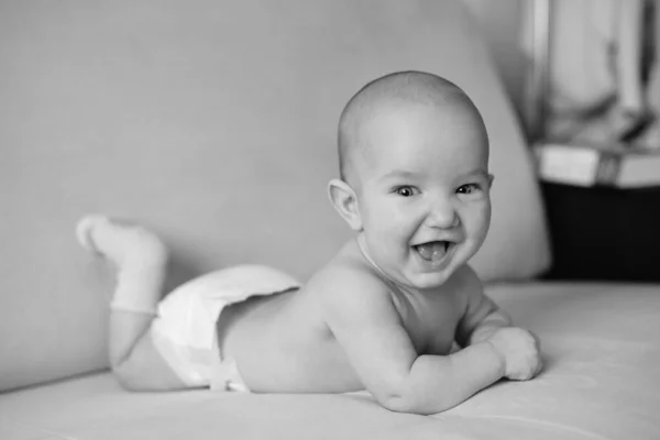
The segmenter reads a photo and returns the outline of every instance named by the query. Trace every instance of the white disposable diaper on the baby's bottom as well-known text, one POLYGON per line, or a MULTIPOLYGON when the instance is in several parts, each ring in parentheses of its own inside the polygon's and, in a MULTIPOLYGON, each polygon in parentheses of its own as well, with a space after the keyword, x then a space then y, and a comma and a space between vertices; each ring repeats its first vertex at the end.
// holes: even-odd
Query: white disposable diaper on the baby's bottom
POLYGON ((221 358, 216 322, 228 305, 299 286, 289 275, 261 265, 211 272, 183 284, 161 301, 151 327, 152 341, 186 385, 249 391, 235 362, 221 358))

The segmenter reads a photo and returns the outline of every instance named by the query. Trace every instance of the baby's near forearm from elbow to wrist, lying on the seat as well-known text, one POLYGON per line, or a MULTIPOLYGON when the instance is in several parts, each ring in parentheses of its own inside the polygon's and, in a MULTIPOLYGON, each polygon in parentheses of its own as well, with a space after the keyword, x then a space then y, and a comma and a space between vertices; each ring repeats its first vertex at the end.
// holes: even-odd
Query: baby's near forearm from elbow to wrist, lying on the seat
POLYGON ((436 414, 468 399, 504 375, 504 361, 490 342, 448 356, 421 355, 413 363, 404 391, 389 403, 393 410, 436 414))

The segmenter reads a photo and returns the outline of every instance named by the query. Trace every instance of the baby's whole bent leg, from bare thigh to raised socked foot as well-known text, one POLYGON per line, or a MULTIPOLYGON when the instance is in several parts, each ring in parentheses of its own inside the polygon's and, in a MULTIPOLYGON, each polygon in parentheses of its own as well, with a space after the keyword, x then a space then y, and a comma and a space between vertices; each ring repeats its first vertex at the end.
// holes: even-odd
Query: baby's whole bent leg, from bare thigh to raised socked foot
POLYGON ((185 388, 150 336, 167 268, 168 252, 161 239, 139 226, 102 216, 85 217, 76 232, 85 248, 117 268, 109 358, 119 382, 132 391, 185 388))

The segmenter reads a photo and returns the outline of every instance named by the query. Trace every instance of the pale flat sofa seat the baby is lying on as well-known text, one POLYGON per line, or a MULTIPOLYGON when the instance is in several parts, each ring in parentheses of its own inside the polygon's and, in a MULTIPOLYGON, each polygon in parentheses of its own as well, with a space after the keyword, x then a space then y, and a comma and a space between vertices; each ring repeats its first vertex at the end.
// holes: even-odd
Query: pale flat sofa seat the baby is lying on
POLYGON ((0 438, 660 438, 660 287, 520 284, 490 294, 540 336, 546 370, 443 414, 389 413, 365 393, 131 394, 103 374, 0 395, 0 438))

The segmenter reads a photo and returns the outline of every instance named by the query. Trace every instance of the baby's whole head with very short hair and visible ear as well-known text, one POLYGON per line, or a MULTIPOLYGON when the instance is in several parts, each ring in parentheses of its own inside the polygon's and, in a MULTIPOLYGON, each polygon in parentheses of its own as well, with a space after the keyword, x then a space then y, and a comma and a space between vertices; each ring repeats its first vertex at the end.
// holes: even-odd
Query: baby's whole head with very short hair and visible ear
POLYGON ((454 84, 419 72, 371 81, 341 114, 339 160, 332 202, 397 283, 439 286, 481 248, 491 220, 488 138, 454 84))

